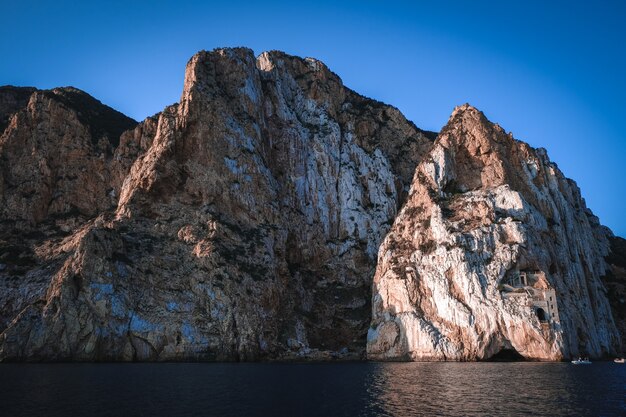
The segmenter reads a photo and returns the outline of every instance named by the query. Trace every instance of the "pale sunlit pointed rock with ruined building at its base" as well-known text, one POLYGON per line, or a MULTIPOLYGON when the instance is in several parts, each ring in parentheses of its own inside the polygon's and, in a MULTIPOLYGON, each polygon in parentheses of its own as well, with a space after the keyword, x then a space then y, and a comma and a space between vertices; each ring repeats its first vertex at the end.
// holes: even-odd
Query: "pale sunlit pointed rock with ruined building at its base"
POLYGON ((381 245, 368 358, 615 354, 610 236, 545 150, 458 107, 381 245))

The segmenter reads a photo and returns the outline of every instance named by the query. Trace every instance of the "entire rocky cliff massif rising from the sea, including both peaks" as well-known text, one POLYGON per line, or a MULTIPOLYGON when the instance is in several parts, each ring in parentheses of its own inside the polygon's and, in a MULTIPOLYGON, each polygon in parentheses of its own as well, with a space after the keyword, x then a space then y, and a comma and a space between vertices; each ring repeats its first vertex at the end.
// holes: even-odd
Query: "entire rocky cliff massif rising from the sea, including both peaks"
POLYGON ((617 238, 472 108, 434 141, 317 60, 235 48, 196 54, 180 102, 138 124, 14 87, 0 123, 0 360, 619 345, 617 238))

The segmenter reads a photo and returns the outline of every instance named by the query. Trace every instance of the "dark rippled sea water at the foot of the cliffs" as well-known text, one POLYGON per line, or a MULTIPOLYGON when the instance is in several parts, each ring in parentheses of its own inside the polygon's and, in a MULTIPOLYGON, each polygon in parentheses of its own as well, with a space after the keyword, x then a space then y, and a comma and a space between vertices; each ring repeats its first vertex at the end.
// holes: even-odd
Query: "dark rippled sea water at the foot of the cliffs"
POLYGON ((626 416, 626 365, 0 365, 2 416, 626 416))

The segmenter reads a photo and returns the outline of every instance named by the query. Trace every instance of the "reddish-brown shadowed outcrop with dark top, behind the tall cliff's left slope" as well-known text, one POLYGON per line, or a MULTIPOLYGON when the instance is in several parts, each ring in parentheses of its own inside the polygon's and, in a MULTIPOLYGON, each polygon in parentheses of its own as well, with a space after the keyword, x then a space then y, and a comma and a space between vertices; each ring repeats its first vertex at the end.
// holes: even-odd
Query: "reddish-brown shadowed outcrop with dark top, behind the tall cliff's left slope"
MULTIPOLYGON (((44 299, 65 237, 117 203, 112 151, 132 119, 75 88, 0 88, 0 329, 44 299)), ((130 162, 127 162, 130 166, 130 162)))

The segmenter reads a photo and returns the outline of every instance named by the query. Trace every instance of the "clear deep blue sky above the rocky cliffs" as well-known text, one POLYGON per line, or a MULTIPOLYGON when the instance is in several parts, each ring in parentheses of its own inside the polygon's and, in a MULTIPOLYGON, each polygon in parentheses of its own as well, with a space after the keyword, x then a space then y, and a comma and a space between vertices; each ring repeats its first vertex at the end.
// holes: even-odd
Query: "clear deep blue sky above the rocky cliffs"
POLYGON ((626 1, 0 0, 0 84, 73 85, 141 120, 178 101, 198 50, 324 61, 440 130, 469 102, 548 149, 626 236, 626 1))

